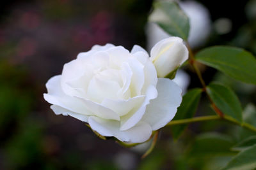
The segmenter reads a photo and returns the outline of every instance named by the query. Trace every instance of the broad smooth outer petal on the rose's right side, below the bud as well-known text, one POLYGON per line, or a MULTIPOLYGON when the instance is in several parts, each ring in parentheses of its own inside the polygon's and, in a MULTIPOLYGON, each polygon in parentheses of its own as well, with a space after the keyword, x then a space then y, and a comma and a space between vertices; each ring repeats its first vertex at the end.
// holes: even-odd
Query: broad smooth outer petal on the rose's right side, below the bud
POLYGON ((141 121, 150 124, 153 131, 164 127, 172 120, 182 101, 182 90, 168 78, 158 79, 157 92, 157 98, 150 101, 146 113, 141 119, 141 121))

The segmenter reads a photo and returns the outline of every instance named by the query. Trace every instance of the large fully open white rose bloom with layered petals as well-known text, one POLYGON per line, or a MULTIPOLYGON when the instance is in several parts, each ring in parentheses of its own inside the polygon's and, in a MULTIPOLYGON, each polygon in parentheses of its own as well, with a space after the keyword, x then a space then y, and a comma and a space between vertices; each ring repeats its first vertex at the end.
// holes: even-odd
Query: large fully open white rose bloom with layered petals
POLYGON ((102 136, 130 143, 147 141, 175 116, 180 87, 157 78, 148 53, 135 45, 95 45, 47 83, 44 99, 56 114, 70 115, 102 136))

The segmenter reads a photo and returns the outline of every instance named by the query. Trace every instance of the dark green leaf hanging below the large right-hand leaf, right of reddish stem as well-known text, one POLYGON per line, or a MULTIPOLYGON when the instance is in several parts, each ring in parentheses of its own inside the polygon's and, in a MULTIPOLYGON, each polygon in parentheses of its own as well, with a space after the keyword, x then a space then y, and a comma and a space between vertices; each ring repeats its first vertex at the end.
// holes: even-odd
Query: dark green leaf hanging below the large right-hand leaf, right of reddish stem
POLYGON ((206 90, 214 104, 223 114, 236 119, 238 122, 243 121, 241 104, 230 88, 220 83, 210 83, 206 90))

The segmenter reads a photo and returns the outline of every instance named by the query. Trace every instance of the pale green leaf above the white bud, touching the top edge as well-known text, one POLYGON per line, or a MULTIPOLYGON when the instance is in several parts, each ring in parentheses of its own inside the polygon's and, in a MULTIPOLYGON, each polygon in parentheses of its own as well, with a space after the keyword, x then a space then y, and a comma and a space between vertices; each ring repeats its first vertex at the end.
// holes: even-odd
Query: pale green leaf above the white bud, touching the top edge
POLYGON ((149 16, 150 22, 156 22, 164 31, 172 36, 188 39, 189 18, 173 1, 157 1, 154 11, 149 16))

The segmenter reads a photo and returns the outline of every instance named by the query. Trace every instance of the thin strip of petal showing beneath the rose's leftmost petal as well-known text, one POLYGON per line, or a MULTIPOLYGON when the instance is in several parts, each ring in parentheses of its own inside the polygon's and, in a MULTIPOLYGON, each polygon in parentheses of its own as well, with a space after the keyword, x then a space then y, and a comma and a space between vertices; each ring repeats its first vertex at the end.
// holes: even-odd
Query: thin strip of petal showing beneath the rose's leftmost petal
POLYGON ((57 106, 54 104, 51 106, 51 109, 52 109, 52 111, 54 111, 54 113, 56 115, 60 115, 60 114, 62 114, 64 116, 70 115, 70 117, 77 118, 78 120, 81 120, 83 122, 88 122, 88 116, 86 116, 86 115, 81 115, 79 113, 75 113, 73 111, 66 110, 65 108, 61 108, 60 106, 57 106))

